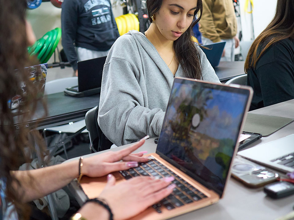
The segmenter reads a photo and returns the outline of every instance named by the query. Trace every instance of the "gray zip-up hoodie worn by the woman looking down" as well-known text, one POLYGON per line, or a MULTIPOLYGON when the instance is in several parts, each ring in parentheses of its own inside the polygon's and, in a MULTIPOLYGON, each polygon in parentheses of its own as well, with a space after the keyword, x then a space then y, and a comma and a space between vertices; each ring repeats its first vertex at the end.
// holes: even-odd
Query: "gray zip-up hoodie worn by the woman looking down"
MULTIPOLYGON (((203 51, 203 80, 220 82, 203 51)), ((181 65, 176 76, 183 77, 181 65)), ((119 37, 107 56, 102 76, 98 123, 105 136, 121 146, 145 135, 159 136, 174 81, 164 60, 138 31, 119 37)))

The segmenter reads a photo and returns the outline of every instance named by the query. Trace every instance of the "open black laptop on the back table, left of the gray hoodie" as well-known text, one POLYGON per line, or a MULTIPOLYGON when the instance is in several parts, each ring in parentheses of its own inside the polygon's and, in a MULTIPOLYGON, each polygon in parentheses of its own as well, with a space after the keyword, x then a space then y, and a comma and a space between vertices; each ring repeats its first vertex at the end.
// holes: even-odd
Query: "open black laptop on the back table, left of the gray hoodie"
POLYGON ((106 57, 99 57, 78 62, 78 85, 66 88, 64 94, 82 97, 100 93, 105 60, 106 57))

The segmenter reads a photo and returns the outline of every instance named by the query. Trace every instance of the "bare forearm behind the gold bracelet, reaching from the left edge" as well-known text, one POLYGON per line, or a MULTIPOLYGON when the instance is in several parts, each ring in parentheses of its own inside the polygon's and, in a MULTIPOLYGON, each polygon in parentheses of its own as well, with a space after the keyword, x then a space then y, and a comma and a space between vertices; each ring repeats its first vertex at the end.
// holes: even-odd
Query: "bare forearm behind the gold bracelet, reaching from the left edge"
POLYGON ((13 187, 23 195, 23 202, 32 201, 53 193, 70 183, 79 175, 79 160, 44 167, 30 171, 12 171, 12 175, 20 182, 13 187))

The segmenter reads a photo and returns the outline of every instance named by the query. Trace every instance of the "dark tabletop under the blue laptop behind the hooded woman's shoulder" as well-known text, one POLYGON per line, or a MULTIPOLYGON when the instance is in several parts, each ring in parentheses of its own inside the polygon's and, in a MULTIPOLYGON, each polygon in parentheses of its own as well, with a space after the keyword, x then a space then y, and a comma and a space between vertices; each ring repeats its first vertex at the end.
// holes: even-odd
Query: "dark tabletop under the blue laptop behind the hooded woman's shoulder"
POLYGON ((220 62, 220 64, 214 68, 217 77, 220 82, 226 82, 235 76, 243 75, 245 61, 234 61, 234 62, 220 62))

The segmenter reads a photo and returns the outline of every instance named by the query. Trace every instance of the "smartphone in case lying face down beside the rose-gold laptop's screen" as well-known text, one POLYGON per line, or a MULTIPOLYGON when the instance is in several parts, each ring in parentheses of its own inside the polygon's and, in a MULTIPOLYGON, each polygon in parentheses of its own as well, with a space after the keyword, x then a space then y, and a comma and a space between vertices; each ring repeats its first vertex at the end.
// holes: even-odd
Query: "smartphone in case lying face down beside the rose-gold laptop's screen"
POLYGON ((279 178, 279 174, 241 156, 236 156, 233 161, 232 176, 251 188, 264 186, 279 178))

